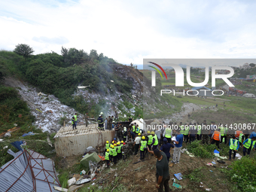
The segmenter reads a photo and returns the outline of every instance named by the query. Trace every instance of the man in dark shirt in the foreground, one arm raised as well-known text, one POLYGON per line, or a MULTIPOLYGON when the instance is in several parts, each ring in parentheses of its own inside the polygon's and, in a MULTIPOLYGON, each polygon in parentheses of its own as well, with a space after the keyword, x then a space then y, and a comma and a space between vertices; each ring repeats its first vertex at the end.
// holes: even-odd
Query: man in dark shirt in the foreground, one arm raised
POLYGON ((169 164, 167 161, 166 154, 163 153, 163 151, 159 151, 157 148, 154 151, 150 151, 148 148, 148 152, 153 154, 154 157, 157 158, 156 187, 158 192, 163 192, 163 187, 164 187, 164 191, 169 192, 170 191, 170 188, 169 188, 170 175, 169 175, 169 164))

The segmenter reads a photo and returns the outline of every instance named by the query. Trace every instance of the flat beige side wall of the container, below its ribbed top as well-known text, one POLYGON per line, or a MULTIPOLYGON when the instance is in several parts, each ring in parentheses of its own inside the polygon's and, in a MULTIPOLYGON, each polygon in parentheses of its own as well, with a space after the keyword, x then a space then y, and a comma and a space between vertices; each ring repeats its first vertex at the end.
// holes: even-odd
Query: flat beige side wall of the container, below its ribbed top
POLYGON ((59 156, 69 157, 72 155, 84 154, 84 151, 89 147, 106 141, 111 142, 114 139, 114 130, 102 131, 102 139, 99 133, 80 134, 75 136, 60 136, 55 138, 55 150, 59 156))

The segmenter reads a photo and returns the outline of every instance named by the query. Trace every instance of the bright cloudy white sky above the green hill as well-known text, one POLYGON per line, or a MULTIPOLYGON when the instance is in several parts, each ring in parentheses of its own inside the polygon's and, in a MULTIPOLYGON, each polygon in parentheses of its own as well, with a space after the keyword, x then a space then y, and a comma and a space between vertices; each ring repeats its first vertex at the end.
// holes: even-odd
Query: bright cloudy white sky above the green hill
POLYGON ((117 62, 144 58, 255 58, 255 1, 0 2, 0 50, 95 49, 117 62))

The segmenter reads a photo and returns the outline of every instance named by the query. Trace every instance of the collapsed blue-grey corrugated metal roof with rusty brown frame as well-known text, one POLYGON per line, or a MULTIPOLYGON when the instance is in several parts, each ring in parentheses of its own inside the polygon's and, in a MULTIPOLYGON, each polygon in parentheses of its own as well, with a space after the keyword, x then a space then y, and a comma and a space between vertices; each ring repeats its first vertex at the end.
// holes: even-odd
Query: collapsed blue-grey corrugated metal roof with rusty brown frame
POLYGON ((1 191, 56 191, 59 186, 53 160, 32 150, 18 151, 11 149, 8 154, 14 156, 0 168, 1 191))

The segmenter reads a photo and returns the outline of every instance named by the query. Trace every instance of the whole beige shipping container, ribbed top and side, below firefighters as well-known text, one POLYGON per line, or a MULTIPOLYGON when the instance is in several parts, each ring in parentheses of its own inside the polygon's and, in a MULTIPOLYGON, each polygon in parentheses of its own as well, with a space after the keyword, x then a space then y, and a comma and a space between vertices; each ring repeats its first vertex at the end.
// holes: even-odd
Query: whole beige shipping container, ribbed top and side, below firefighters
POLYGON ((89 147, 99 145, 103 142, 114 139, 114 130, 101 131, 96 130, 98 125, 77 126, 78 130, 72 130, 71 126, 62 127, 55 138, 56 154, 59 156, 69 157, 72 155, 84 154, 84 151, 89 147))

